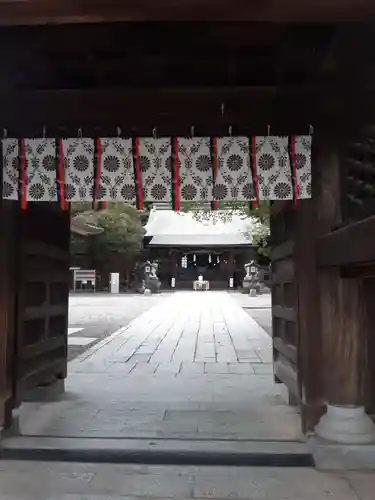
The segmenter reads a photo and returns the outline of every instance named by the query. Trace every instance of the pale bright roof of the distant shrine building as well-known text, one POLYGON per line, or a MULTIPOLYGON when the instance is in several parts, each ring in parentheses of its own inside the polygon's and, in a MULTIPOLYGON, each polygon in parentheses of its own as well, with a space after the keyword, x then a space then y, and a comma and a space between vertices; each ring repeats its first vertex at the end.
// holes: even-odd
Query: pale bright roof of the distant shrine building
POLYGON ((221 213, 197 220, 192 212, 153 209, 146 224, 150 246, 251 246, 251 228, 259 222, 242 213, 223 221, 221 213))

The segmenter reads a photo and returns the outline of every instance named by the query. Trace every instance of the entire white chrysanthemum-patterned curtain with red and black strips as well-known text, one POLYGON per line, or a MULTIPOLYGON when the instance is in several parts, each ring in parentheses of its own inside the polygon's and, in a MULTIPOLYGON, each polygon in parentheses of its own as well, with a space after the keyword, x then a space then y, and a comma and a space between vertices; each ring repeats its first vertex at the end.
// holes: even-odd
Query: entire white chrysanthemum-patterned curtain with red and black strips
POLYGON ((22 175, 27 181, 22 185, 26 188, 22 190, 24 201, 56 201, 60 196, 68 202, 92 202, 94 198, 134 202, 142 197, 152 203, 172 199, 249 201, 255 196, 250 166, 256 169, 260 200, 297 200, 312 195, 310 135, 291 136, 291 142, 288 137, 273 136, 258 136, 253 141, 247 137, 133 141, 102 138, 98 151, 99 141, 94 139, 63 139, 61 163, 55 139, 25 139, 26 170, 21 172, 20 139, 3 139, 2 197, 19 199, 22 175), (65 188, 61 193, 60 178, 64 178, 65 188))

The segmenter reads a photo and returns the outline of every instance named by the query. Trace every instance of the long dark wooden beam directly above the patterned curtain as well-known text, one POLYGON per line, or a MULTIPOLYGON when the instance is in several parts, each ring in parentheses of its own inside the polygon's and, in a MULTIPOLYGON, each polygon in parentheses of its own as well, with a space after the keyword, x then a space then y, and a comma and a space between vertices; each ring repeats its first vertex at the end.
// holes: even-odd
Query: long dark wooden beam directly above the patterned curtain
POLYGON ((126 135, 195 133, 307 133, 308 124, 322 119, 321 93, 334 89, 277 87, 104 88, 0 94, 0 128, 11 135, 75 135, 110 133, 120 126, 126 135), (224 105, 224 106, 223 106, 224 105), (224 114, 222 113, 224 111, 224 114), (314 121, 314 117, 316 120, 314 121))

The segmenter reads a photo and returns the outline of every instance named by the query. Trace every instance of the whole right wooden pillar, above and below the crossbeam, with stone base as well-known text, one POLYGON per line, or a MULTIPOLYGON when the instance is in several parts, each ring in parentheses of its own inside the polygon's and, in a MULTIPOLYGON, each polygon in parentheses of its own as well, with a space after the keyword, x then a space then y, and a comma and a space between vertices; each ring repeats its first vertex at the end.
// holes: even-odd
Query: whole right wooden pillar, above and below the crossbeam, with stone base
MULTIPOLYGON (((317 138, 322 139, 322 138, 317 138)), ((317 197, 321 236, 342 222, 340 142, 318 142, 317 197)), ((337 249, 340 251, 340 248, 337 249)), ((363 282, 345 278, 340 267, 320 267, 320 319, 323 393, 327 412, 315 427, 318 436, 342 443, 366 443, 375 426, 364 410, 366 383, 366 311, 363 282)))

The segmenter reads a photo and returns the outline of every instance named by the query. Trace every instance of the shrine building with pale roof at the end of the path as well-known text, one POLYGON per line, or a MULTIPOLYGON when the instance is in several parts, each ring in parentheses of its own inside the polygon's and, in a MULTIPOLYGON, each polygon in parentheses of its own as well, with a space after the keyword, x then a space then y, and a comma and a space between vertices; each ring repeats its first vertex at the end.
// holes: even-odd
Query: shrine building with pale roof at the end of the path
POLYGON ((242 286, 244 265, 256 259, 252 227, 257 224, 238 212, 228 220, 223 212, 197 218, 194 212, 174 212, 155 205, 145 227, 150 260, 159 263, 163 288, 192 289, 199 276, 211 290, 242 286))

